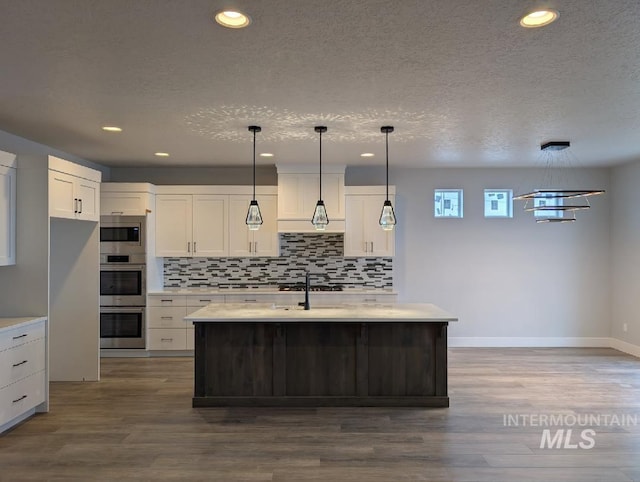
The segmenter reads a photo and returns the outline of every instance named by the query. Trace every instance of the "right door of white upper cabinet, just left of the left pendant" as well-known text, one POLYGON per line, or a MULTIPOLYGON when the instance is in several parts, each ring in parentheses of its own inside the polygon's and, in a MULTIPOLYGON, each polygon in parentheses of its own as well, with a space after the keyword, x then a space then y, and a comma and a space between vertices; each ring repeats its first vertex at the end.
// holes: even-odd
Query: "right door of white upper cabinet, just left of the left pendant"
POLYGON ((229 196, 193 196, 193 256, 228 256, 229 196))

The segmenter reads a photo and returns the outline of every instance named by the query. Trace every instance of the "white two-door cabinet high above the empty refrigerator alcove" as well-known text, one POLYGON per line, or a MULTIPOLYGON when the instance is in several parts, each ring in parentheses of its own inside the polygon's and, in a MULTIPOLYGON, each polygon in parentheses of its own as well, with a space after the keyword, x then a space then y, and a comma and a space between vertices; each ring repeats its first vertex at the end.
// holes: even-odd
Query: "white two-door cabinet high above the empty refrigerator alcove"
POLYGON ((49 156, 49 216, 100 220, 102 173, 49 156))

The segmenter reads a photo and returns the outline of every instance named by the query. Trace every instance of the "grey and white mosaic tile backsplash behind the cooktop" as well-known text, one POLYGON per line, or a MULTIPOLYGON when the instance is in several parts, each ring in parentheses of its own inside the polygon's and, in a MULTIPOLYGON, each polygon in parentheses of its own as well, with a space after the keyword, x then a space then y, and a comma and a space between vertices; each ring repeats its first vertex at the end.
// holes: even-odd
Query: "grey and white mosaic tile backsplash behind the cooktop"
POLYGON ((316 284, 393 287, 393 258, 343 258, 343 252, 343 234, 282 233, 278 258, 165 258, 164 286, 261 288, 304 283, 310 271, 316 284))

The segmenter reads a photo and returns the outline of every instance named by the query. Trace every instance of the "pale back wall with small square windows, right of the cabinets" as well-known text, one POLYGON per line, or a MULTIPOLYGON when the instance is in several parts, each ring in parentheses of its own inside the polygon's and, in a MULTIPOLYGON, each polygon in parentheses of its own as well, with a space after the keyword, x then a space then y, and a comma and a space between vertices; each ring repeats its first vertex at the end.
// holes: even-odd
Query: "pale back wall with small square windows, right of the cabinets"
MULTIPOLYGON (((347 184, 384 174, 347 170, 347 184)), ((394 285, 400 301, 432 302, 460 322, 452 337, 609 337, 609 206, 594 197, 575 223, 485 219, 483 190, 527 192, 540 169, 392 169, 398 218, 394 285), (435 219, 433 190, 464 189, 464 218, 435 219)), ((572 188, 609 189, 606 169, 575 169, 572 188)))

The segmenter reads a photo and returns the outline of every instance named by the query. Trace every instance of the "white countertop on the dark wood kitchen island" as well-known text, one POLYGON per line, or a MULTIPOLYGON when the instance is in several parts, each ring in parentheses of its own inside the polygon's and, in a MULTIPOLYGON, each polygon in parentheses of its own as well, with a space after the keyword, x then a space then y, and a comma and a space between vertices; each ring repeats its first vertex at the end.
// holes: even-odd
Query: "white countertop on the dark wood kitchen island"
POLYGON ((185 317, 191 322, 443 322, 458 318, 430 303, 298 306, 269 303, 212 303, 185 317))

